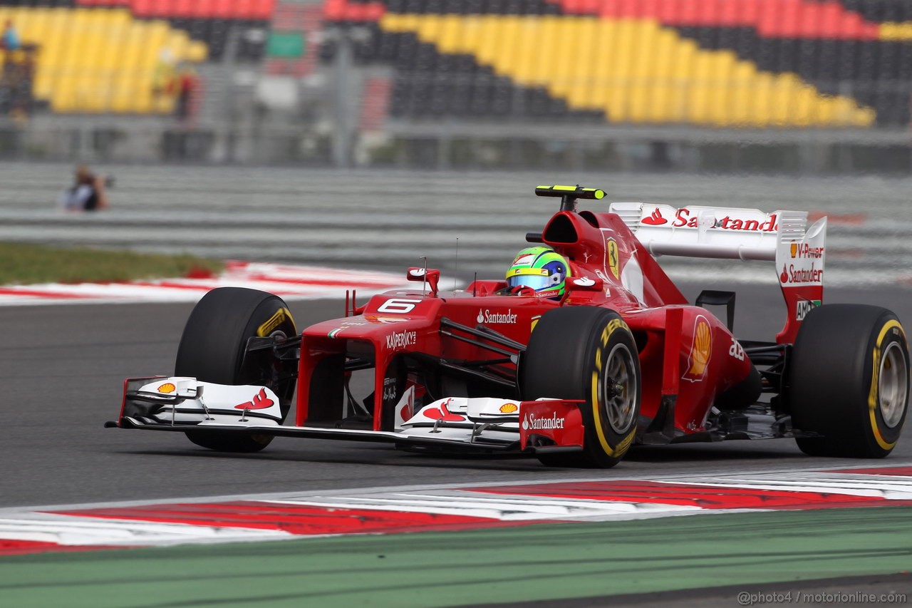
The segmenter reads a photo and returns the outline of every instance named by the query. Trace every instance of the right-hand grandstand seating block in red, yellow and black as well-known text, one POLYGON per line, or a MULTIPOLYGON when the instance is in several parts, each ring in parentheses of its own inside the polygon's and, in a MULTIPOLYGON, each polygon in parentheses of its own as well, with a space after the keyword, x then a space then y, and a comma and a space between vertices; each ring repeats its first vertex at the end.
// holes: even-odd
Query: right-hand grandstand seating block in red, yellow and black
POLYGON ((804 128, 908 120, 908 4, 325 0, 324 15, 377 24, 358 59, 394 66, 398 116, 804 128))

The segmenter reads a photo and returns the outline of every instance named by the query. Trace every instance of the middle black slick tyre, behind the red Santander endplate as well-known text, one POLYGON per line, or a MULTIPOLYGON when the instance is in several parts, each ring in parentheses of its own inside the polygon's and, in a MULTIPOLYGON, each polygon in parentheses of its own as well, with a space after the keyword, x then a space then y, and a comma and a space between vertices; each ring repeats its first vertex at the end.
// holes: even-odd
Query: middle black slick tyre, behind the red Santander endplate
POLYGON ((637 344, 613 310, 567 307, 546 312, 523 354, 523 399, 579 399, 586 427, 582 452, 539 454, 545 466, 615 466, 637 433, 637 344))

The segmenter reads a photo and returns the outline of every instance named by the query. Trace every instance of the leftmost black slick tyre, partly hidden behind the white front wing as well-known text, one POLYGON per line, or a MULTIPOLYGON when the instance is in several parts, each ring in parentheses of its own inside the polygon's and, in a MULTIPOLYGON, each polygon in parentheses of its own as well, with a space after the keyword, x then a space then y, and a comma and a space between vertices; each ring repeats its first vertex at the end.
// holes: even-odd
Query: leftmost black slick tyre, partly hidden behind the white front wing
MULTIPOLYGON (((190 313, 174 374, 209 383, 266 386, 278 396, 284 420, 295 393, 294 378, 288 377, 271 352, 247 357, 244 353, 250 338, 296 334, 295 320, 281 298, 255 289, 212 289, 190 313)), ((197 446, 219 452, 258 452, 273 440, 270 435, 205 431, 188 431, 187 437, 197 446)))

